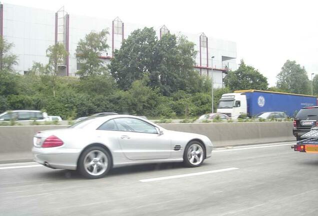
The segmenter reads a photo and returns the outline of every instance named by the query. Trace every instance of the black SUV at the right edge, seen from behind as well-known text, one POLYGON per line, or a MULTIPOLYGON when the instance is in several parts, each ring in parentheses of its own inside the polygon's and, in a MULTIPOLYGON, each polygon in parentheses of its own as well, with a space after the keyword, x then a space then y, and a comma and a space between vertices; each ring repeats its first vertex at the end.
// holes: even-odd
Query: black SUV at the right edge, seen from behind
MULTIPOLYGON (((307 106, 301 108, 293 121, 292 134, 300 140, 300 136, 310 131, 318 121, 318 106, 307 106)), ((318 123, 317 123, 318 124, 318 123)))

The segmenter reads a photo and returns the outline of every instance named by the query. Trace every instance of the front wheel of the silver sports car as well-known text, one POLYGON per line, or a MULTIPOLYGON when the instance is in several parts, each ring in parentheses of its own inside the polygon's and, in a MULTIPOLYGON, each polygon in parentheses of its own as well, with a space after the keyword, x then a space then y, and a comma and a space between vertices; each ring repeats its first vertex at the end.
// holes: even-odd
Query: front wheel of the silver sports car
POLYGON ((183 152, 183 163, 188 167, 200 166, 205 158, 205 150, 201 142, 190 141, 183 152))

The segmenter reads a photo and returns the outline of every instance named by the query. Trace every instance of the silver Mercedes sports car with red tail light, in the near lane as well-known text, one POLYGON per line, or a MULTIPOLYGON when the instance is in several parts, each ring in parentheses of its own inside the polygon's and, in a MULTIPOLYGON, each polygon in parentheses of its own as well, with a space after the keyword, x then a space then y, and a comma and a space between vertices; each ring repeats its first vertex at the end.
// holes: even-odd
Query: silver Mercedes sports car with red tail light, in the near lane
POLYGON ((196 167, 212 151, 204 135, 166 130, 132 115, 87 118, 68 128, 39 131, 33 144, 36 162, 77 169, 88 178, 128 164, 183 161, 196 167))

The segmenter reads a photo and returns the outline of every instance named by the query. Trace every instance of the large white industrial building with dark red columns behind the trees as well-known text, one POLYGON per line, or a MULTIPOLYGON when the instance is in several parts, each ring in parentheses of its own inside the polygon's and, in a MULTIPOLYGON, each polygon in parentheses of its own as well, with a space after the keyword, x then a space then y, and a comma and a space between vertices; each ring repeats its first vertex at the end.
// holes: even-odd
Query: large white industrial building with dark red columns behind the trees
MULTIPOLYGON (((169 29, 166 25, 154 27, 160 38, 164 33, 183 34, 195 43, 198 51, 194 68, 201 75, 210 76, 211 56, 213 58, 213 82, 215 87, 222 86, 223 77, 228 69, 236 69, 236 43, 200 33, 184 33, 169 29)), ((62 75, 74 76, 77 71, 75 49, 80 38, 90 31, 100 31, 108 28, 109 50, 100 58, 109 62, 112 51, 120 47, 121 41, 127 38, 131 31, 143 28, 142 24, 127 23, 120 18, 103 19, 68 14, 64 8, 56 12, 13 4, 0 4, 0 35, 14 44, 11 49, 18 56, 15 69, 26 73, 33 61, 47 63, 46 49, 55 42, 62 42, 69 52, 63 65, 60 65, 62 75)), ((204 29, 202 29, 204 31, 204 29)))

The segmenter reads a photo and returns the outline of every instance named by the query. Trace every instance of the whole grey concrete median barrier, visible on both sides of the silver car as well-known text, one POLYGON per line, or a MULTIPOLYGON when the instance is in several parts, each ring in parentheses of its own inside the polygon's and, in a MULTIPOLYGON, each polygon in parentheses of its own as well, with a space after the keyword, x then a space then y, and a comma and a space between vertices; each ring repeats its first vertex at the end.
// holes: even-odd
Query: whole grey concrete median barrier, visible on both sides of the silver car
MULTIPOLYGON (((215 147, 295 140, 292 122, 168 123, 166 129, 200 133, 215 147)), ((33 135, 67 125, 0 126, 0 161, 32 158, 33 135)))

